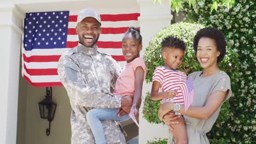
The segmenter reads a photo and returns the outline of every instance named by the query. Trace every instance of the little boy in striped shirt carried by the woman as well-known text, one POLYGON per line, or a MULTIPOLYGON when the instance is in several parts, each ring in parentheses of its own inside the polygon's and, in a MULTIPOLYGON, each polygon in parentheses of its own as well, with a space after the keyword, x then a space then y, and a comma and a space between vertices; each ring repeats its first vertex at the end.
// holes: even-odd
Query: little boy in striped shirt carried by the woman
MULTIPOLYGON (((186 45, 183 40, 174 37, 166 37, 161 44, 165 65, 157 67, 154 71, 151 98, 161 100, 161 103, 171 101, 177 105, 184 104, 180 87, 187 81, 187 75, 177 68, 182 63, 186 45)), ((182 116, 179 116, 178 124, 170 124, 170 126, 173 128, 172 134, 176 143, 188 143, 182 116)))

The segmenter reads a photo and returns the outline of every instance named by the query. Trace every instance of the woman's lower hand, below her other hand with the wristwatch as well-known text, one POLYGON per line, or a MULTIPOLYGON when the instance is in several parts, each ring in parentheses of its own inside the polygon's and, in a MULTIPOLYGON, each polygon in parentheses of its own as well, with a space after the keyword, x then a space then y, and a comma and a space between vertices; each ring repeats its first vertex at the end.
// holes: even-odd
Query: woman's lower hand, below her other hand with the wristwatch
POLYGON ((165 124, 169 127, 169 130, 172 131, 173 128, 171 127, 171 124, 178 124, 179 123, 179 115, 175 115, 173 112, 168 112, 164 115, 164 118, 162 121, 165 122, 165 124))

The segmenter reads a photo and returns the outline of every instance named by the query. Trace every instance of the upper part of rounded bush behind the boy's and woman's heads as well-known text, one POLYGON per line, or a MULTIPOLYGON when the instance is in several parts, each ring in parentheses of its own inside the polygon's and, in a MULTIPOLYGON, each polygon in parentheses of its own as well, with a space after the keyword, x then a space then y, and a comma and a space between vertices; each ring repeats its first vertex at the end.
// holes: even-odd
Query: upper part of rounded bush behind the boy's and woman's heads
POLYGON ((184 40, 187 45, 183 62, 180 65, 179 70, 184 71, 186 74, 195 70, 200 70, 200 64, 197 62, 193 49, 193 39, 196 32, 201 28, 203 28, 202 25, 181 22, 170 25, 156 34, 154 38, 149 41, 149 46, 144 55, 145 63, 147 65, 146 81, 151 82, 155 68, 164 65, 164 60, 161 55, 161 41, 170 35, 184 40))

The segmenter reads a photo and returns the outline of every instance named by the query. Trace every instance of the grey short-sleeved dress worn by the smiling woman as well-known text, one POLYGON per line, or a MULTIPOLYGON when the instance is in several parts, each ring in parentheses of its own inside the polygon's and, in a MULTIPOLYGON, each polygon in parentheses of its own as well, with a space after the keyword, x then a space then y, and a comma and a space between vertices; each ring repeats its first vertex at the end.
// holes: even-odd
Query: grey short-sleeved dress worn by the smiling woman
MULTIPOLYGON (((194 80, 194 100, 191 106, 204 106, 210 94, 215 91, 228 91, 223 103, 231 97, 230 78, 224 71, 207 77, 201 77, 201 73, 202 71, 196 71, 188 76, 188 78, 192 77, 194 80)), ((216 122, 220 107, 207 120, 184 116, 189 144, 210 143, 206 133, 212 129, 213 124, 216 122)), ((176 143, 171 133, 168 143, 176 143)))

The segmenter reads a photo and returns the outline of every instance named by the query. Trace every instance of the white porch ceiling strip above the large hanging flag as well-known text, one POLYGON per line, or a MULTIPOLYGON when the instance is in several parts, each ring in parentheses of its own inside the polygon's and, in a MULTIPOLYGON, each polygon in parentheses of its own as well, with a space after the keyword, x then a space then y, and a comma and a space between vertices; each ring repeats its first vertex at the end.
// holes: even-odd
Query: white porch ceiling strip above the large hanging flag
MULTIPOLYGON (((5 1, 5 0, 4 0, 5 1)), ((84 8, 94 9, 139 9, 137 0, 84 0, 84 1, 66 1, 66 0, 23 0, 23 1, 8 1, 15 4, 22 12, 34 11, 56 11, 56 10, 80 10, 84 8)))

